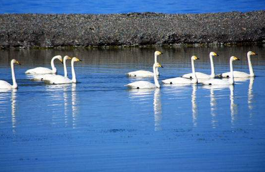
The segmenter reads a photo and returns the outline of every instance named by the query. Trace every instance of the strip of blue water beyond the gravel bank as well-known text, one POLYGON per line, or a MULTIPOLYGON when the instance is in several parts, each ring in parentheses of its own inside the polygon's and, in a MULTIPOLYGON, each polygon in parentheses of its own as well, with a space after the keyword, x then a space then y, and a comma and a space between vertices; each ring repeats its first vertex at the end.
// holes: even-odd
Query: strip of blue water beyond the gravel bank
POLYGON ((0 13, 208 13, 264 9, 265 0, 0 0, 0 13))

